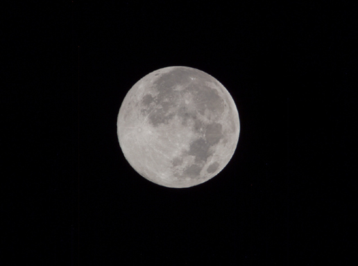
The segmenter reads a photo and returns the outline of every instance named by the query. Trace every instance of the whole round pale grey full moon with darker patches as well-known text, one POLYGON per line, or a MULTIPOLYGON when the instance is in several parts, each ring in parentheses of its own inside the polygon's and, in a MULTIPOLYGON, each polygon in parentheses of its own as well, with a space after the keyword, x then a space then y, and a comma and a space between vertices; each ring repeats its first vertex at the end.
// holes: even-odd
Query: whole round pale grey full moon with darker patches
POLYGON ((128 91, 117 119, 119 145, 130 166, 170 188, 196 186, 221 172, 239 132, 228 90, 191 67, 148 73, 128 91))

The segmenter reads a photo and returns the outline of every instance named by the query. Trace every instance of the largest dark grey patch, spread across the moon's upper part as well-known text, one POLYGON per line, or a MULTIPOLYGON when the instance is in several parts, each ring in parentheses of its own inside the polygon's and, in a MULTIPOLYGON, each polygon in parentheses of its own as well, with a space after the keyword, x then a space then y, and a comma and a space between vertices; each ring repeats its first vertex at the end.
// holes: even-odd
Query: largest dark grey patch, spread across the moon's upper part
POLYGON ((155 89, 157 96, 153 98, 151 94, 146 94, 142 99, 142 106, 145 107, 142 114, 148 114, 148 122, 154 127, 164 123, 167 124, 178 115, 182 117, 182 125, 187 125, 189 118, 195 121, 194 132, 201 132, 202 122, 196 118, 196 112, 205 116, 205 109, 211 112, 212 118, 219 118, 225 106, 223 99, 219 96, 216 89, 207 87, 206 81, 214 80, 206 73, 195 69, 178 68, 159 76, 153 82, 152 88, 155 89), (176 85, 184 87, 181 92, 176 91, 176 85), (182 94, 193 97, 194 108, 179 107, 182 94), (179 108, 179 109, 178 109, 179 108))

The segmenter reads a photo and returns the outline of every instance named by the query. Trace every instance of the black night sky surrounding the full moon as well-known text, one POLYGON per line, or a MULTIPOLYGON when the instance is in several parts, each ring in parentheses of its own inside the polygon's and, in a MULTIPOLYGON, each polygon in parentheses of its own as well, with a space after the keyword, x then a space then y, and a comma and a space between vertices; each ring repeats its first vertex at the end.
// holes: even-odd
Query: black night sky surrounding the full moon
POLYGON ((6 265, 354 258, 357 4, 58 1, 2 12, 6 265), (117 141, 127 91, 169 66, 214 76, 239 111, 232 160, 192 188, 140 177, 117 141))

